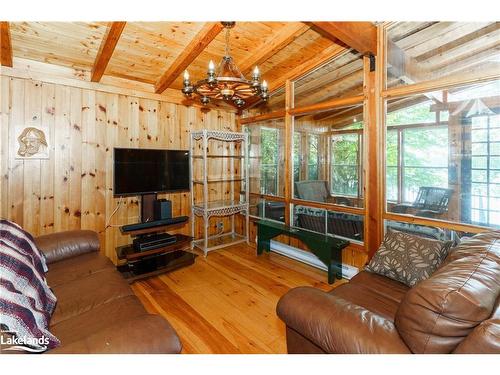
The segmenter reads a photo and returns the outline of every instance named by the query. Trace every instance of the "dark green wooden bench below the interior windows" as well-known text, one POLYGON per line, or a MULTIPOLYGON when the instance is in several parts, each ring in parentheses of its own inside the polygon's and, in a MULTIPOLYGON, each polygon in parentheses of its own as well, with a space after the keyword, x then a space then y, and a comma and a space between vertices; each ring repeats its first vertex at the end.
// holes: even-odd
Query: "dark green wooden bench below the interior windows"
POLYGON ((271 239, 286 234, 305 243, 309 250, 327 266, 329 284, 334 282, 335 276, 342 278, 342 249, 349 245, 349 241, 269 220, 258 220, 256 224, 258 255, 264 251, 271 251, 271 239), (334 272, 335 266, 337 266, 337 272, 334 272))

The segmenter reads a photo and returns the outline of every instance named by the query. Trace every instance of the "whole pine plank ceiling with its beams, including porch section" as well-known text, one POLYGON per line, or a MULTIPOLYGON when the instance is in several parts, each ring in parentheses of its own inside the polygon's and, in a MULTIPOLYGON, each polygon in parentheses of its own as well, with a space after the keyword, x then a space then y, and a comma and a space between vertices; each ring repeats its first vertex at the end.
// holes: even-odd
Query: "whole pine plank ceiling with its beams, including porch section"
MULTIPOLYGON (((1 24, 10 31, 14 58, 92 72, 94 81, 104 75, 147 83, 158 93, 180 89, 186 68, 193 79, 203 78, 208 61, 218 63, 225 46, 217 22, 1 24)), ((259 65, 274 93, 268 107, 282 107, 286 79, 296 80, 296 104, 307 105, 362 92, 362 54, 351 47, 373 50, 374 30, 369 22, 237 22, 231 55, 247 78, 259 65)), ((450 59, 474 66, 476 51, 498 50, 499 33, 498 22, 401 22, 391 28, 390 38, 430 71, 443 69, 450 59)))

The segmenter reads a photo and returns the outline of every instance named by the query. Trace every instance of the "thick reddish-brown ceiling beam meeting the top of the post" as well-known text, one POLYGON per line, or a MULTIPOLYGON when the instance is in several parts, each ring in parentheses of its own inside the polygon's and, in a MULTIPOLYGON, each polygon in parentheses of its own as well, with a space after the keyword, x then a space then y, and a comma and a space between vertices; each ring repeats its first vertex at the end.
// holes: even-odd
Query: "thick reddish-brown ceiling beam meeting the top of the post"
POLYGON ((318 34, 363 55, 377 54, 377 28, 371 22, 308 22, 318 34))

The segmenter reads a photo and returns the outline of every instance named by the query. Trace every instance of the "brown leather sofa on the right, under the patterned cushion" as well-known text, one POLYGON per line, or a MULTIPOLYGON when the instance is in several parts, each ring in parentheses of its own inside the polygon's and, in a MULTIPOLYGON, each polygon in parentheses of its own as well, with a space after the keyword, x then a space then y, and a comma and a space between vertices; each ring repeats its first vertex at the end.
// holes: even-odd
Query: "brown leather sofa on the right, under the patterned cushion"
POLYGON ((500 353, 500 232, 452 249, 408 288, 362 271, 329 293, 299 287, 277 306, 289 353, 500 353))

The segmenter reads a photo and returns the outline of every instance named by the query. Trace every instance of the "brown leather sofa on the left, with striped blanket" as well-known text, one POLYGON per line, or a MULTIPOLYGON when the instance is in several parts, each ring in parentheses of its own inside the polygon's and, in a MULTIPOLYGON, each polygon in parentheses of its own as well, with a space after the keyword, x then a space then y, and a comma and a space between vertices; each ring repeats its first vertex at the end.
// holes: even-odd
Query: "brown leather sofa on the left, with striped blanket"
POLYGON ((58 299, 50 331, 61 345, 47 353, 181 351, 172 326, 148 314, 110 260, 100 254, 95 232, 60 232, 35 240, 47 257, 47 282, 58 299))

